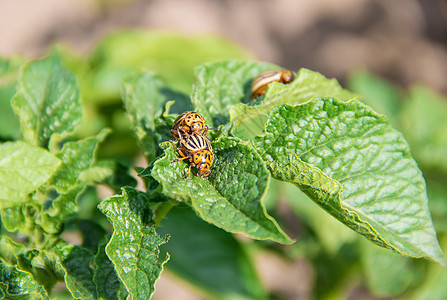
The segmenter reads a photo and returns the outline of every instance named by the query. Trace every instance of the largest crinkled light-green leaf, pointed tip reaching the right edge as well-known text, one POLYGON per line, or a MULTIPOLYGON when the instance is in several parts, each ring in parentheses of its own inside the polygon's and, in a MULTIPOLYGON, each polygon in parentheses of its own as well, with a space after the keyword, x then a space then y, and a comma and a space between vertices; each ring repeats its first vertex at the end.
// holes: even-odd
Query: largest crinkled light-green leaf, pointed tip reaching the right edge
POLYGON ((446 264, 402 135, 360 101, 276 107, 255 146, 273 177, 379 246, 446 264))

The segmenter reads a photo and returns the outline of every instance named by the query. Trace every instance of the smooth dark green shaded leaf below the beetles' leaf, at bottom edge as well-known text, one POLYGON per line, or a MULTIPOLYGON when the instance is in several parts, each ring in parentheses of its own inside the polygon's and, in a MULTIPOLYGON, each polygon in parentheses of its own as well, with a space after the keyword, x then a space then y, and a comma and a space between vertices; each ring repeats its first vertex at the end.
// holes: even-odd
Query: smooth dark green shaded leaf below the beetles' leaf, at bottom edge
POLYGON ((174 207, 160 224, 171 239, 168 269, 218 299, 265 299, 265 291, 242 245, 225 231, 174 207), (179 226, 179 224, 182 224, 179 226))

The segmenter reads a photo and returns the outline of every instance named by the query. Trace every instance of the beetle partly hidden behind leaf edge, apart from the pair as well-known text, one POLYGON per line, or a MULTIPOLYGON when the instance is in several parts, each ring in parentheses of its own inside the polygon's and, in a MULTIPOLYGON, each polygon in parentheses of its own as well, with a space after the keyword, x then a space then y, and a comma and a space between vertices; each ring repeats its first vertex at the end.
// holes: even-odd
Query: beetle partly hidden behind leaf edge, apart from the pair
POLYGON ((295 79, 295 75, 290 70, 269 70, 264 71, 253 80, 251 84, 252 97, 250 101, 265 94, 267 86, 273 81, 288 84, 295 79))

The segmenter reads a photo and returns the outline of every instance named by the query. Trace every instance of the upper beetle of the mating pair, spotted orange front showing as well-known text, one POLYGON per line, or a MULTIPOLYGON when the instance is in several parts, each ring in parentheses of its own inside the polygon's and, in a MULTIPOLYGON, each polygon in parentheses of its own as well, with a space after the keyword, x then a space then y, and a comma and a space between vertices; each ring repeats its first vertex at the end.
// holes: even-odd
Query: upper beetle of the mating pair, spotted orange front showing
POLYGON ((172 125, 171 135, 177 140, 181 135, 190 135, 196 133, 203 133, 206 135, 208 130, 215 130, 216 128, 209 128, 206 125, 205 118, 194 111, 186 111, 175 119, 172 125))

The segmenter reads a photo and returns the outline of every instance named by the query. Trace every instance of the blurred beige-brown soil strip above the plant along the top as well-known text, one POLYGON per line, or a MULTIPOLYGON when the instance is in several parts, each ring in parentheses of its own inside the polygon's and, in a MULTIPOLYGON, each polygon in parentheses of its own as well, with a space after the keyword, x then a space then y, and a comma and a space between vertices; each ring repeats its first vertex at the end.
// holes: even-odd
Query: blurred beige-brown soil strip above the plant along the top
POLYGON ((257 59, 343 80, 366 68, 447 93, 445 0, 0 0, 0 55, 88 51, 123 27, 218 34, 257 59))

